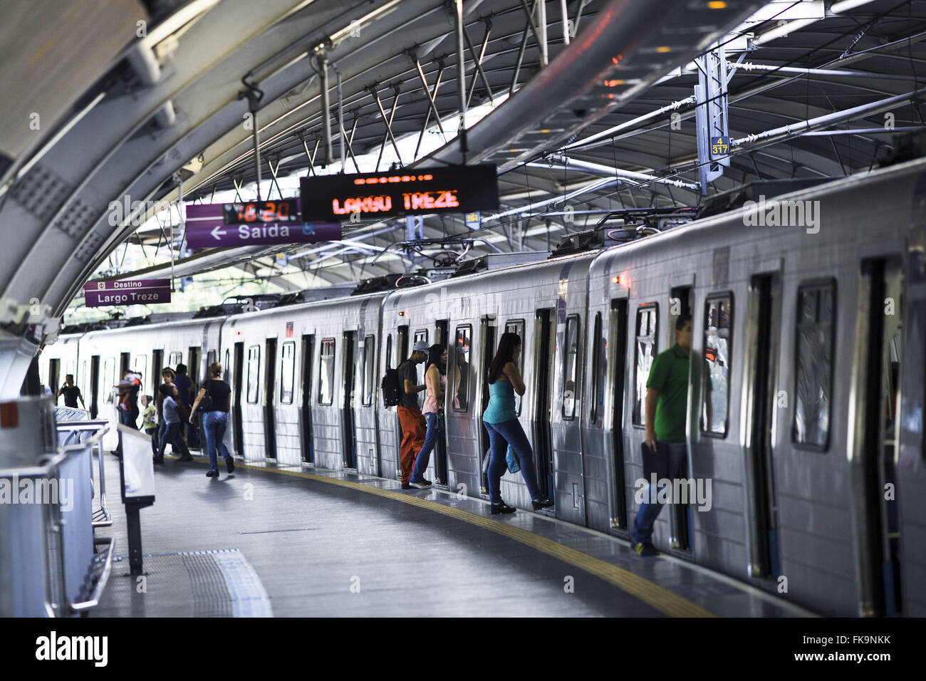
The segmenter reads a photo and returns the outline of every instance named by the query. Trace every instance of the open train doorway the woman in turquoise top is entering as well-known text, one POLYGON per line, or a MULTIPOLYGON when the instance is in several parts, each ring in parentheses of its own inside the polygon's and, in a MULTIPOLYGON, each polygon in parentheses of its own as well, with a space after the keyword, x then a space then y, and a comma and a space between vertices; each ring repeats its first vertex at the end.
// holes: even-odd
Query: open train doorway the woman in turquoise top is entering
MULTIPOLYGON (((553 498, 553 374, 557 324, 553 309, 538 309, 534 316, 534 463, 541 496, 553 498)), ((554 499, 555 500, 555 499, 554 499)))

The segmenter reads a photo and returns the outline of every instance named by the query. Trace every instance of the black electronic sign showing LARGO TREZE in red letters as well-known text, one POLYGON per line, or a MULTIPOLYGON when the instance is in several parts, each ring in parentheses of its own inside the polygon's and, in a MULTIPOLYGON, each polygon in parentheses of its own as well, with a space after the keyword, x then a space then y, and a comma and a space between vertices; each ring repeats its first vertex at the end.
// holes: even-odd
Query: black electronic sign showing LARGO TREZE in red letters
POLYGON ((320 175, 300 185, 304 222, 498 208, 498 172, 491 164, 320 175))

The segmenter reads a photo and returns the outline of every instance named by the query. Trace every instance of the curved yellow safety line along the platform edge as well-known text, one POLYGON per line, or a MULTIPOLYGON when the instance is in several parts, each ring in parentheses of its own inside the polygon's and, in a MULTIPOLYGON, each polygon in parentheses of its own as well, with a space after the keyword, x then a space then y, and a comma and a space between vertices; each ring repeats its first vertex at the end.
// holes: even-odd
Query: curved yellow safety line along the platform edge
POLYGON ((412 497, 401 492, 394 492, 382 487, 364 485, 352 480, 341 480, 340 478, 330 478, 324 475, 315 475, 313 473, 303 473, 301 471, 285 471, 280 468, 266 468, 264 466, 250 466, 244 463, 235 463, 236 467, 247 468, 251 471, 266 471, 268 473, 282 473, 283 475, 294 475, 295 477, 306 478, 307 480, 316 480, 319 483, 328 483, 356 489, 358 491, 375 494, 384 498, 391 498, 394 501, 401 501, 418 506, 421 509, 427 509, 437 513, 443 513, 451 518, 456 518, 464 523, 478 525, 495 534, 507 536, 521 544, 526 544, 532 549, 537 549, 543 553, 558 558, 560 561, 568 562, 589 574, 604 579, 606 582, 618 586, 631 596, 644 601, 644 603, 653 606, 659 612, 669 615, 669 617, 716 617, 713 612, 702 608, 692 601, 682 598, 678 594, 672 593, 669 589, 658 586, 648 579, 641 577, 639 574, 633 574, 628 570, 619 568, 617 565, 594 558, 580 550, 571 549, 563 546, 553 539, 545 536, 535 535, 532 532, 523 530, 507 523, 502 523, 491 518, 485 518, 482 515, 461 511, 449 506, 444 506, 435 501, 428 499, 412 497))

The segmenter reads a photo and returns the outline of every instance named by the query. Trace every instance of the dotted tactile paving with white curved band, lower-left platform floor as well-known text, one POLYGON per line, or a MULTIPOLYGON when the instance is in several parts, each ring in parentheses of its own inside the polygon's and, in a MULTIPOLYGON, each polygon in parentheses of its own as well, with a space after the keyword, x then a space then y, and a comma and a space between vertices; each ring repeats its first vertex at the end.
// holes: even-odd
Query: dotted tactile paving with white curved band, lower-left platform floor
MULTIPOLYGON (((114 561, 116 571, 128 573, 127 556, 119 556, 114 561)), ((169 587, 171 591, 192 596, 192 599, 185 599, 178 593, 177 599, 160 601, 168 606, 169 612, 144 614, 187 617, 273 616, 266 589, 238 549, 148 554, 144 556, 144 573, 152 590, 169 587), (186 584, 181 584, 181 581, 186 584)), ((112 595, 117 600, 123 597, 122 594, 112 595)))

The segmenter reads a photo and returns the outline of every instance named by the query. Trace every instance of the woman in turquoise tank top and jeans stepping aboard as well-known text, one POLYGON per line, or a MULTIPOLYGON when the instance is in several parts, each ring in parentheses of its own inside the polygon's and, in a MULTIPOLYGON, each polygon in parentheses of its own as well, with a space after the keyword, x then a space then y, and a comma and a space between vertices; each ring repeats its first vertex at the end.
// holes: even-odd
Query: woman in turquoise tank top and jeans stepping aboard
POLYGON ((534 511, 553 506, 553 500, 541 497, 537 474, 533 468, 533 450, 515 410, 515 392, 524 395, 524 381, 518 369, 521 342, 518 334, 506 332, 498 339, 498 351, 489 364, 489 404, 482 413, 482 423, 489 433, 489 501, 493 513, 513 513, 515 509, 502 500, 499 487, 507 469, 507 448, 518 457, 520 473, 531 495, 534 511))

